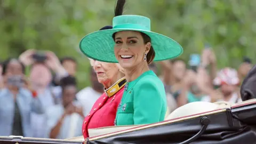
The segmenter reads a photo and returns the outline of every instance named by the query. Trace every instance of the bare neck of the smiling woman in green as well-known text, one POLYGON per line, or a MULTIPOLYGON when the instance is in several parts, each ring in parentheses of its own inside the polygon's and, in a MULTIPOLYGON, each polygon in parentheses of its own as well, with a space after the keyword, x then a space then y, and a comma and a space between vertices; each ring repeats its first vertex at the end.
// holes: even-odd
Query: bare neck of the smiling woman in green
POLYGON ((125 78, 127 82, 134 81, 137 79, 140 75, 145 73, 146 71, 150 70, 148 67, 147 62, 141 62, 138 66, 132 68, 132 69, 125 69, 125 78))

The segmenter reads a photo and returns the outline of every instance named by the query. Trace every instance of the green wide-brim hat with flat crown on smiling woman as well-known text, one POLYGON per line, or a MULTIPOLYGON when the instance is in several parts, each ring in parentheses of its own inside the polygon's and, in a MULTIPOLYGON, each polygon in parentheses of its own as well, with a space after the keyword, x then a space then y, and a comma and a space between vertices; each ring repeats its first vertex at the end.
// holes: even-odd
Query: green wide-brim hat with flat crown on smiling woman
POLYGON ((120 15, 113 18, 113 29, 99 30, 86 35, 79 43, 80 50, 94 60, 117 63, 114 54, 113 34, 132 30, 145 33, 151 38, 155 50, 154 61, 173 59, 182 54, 183 49, 173 39, 150 31, 150 19, 140 15, 120 15))

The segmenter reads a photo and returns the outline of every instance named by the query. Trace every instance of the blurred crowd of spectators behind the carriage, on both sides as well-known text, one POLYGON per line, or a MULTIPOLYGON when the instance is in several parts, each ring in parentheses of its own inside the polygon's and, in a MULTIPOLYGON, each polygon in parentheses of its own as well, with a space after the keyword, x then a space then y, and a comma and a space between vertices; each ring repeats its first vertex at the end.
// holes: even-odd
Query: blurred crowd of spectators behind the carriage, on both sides
MULTIPOLYGON (((245 58, 238 69, 217 69, 213 49, 191 54, 188 62, 173 59, 150 64, 162 79, 167 113, 195 101, 240 102, 239 85, 252 68, 245 58)), ((67 139, 82 135, 84 117, 104 92, 90 68, 91 86, 77 89, 75 58, 51 51, 27 50, 0 66, 0 135, 67 139), (27 75, 26 75, 27 74, 27 75)))

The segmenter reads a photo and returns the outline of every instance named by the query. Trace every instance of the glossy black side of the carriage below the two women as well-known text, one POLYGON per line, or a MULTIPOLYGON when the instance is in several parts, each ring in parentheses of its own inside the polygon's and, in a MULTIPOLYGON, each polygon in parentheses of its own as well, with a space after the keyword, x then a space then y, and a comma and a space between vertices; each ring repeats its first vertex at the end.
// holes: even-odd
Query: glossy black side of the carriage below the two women
POLYGON ((238 105, 230 109, 220 109, 190 117, 171 119, 161 123, 136 127, 92 137, 88 144, 98 143, 186 143, 201 129, 202 118, 210 124, 199 138, 191 144, 251 144, 256 143, 256 102, 238 105))

